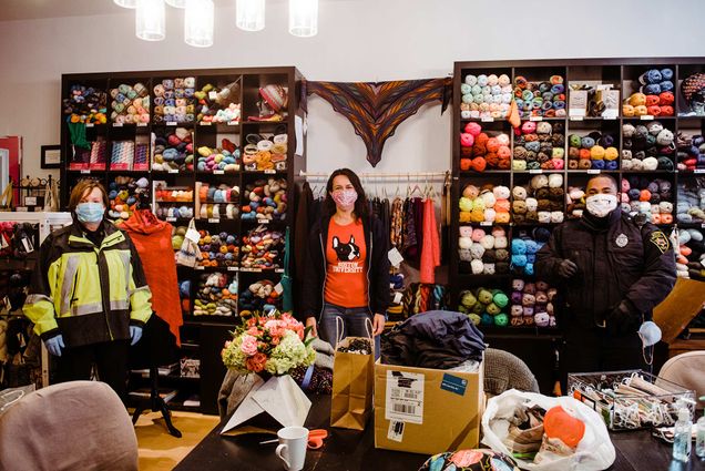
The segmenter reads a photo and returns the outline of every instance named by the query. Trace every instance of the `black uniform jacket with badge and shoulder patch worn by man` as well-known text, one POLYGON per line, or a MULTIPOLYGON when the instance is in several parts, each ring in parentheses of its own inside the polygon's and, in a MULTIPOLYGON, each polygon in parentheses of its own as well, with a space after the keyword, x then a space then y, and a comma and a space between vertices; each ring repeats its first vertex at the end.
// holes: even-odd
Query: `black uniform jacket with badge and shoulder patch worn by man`
POLYGON ((556 227, 537 256, 539 279, 559 288, 564 327, 604 326, 625 300, 644 320, 675 284, 675 256, 668 237, 653 224, 637 225, 617 207, 609 224, 585 214, 556 227), (563 259, 578 265, 570 279, 559 276, 563 259))

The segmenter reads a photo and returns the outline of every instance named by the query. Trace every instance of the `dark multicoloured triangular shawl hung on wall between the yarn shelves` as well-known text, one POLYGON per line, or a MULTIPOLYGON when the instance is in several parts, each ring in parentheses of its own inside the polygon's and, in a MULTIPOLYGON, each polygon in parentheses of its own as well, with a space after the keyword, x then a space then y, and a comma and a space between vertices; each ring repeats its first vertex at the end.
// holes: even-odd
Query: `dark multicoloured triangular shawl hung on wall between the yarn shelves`
POLYGON ((392 82, 307 82, 302 90, 302 106, 306 96, 317 94, 335 111, 347 117, 355 133, 367 147, 367 161, 377 166, 385 142, 399 124, 419 109, 435 101, 446 111, 452 93, 452 79, 398 80, 392 82))

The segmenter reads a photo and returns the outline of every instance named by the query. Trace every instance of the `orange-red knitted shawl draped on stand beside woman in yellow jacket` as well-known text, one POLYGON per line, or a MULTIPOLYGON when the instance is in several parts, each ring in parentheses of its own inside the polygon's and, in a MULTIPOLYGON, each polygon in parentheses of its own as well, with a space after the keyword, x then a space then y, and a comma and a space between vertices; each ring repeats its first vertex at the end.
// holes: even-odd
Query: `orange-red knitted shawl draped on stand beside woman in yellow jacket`
POLYGON ((172 247, 172 225, 160 221, 149 209, 140 209, 121 226, 134 243, 147 285, 152 290, 152 309, 164 319, 181 346, 178 327, 184 324, 178 298, 176 262, 172 247))

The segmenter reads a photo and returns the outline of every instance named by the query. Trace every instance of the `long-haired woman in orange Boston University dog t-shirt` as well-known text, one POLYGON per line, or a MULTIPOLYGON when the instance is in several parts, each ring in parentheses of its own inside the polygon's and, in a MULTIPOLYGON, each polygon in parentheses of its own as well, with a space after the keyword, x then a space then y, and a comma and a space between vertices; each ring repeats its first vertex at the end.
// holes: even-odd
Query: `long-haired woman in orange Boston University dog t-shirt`
POLYGON ((366 337, 385 328, 389 305, 387 229, 369 214, 359 177, 335 171, 326 185, 323 217, 310 232, 304 277, 303 314, 315 335, 335 345, 337 318, 343 337, 366 337))

